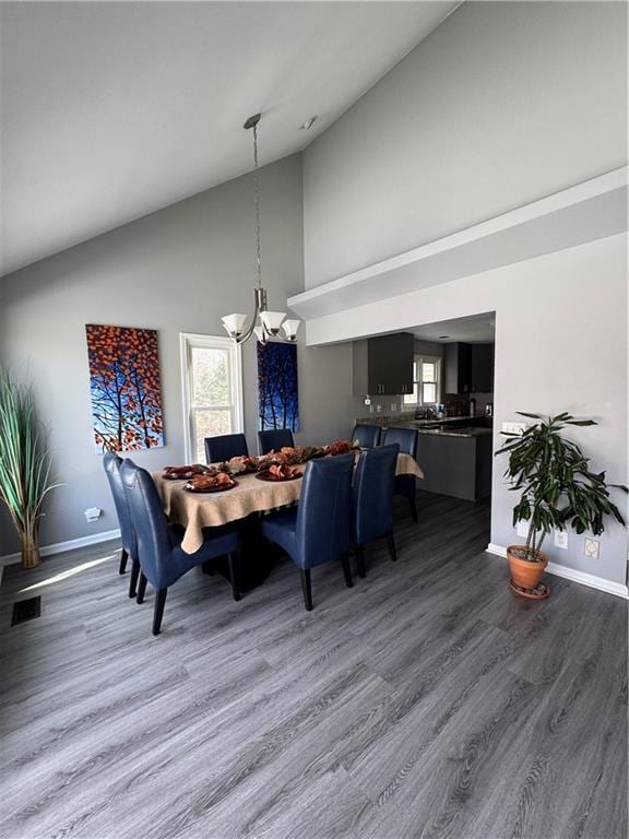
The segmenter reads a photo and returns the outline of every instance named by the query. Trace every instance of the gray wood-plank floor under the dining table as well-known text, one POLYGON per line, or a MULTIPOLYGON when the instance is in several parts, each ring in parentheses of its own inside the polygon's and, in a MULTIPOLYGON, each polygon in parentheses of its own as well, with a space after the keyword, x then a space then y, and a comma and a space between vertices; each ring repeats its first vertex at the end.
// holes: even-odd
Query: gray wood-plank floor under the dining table
POLYGON ((239 603, 195 569, 157 638, 116 543, 5 569, 0 836, 625 839, 626 602, 518 599, 486 504, 419 508, 312 613, 289 562, 239 603))

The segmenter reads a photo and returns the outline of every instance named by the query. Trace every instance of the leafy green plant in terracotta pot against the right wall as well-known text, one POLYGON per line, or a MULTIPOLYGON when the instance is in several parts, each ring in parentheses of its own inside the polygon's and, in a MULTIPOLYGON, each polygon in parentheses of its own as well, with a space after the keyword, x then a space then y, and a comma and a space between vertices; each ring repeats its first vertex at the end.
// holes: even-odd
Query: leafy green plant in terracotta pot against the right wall
POLYGON ((625 524, 610 500, 609 488, 628 489, 607 484, 605 472, 592 472, 579 446, 561 434, 569 425, 596 425, 593 420, 575 420, 568 413, 547 418, 524 411, 517 413, 537 422, 522 434, 503 433, 509 441, 496 454, 509 454, 505 476, 511 482, 510 489, 520 493, 513 507, 513 527, 519 521, 529 522, 526 544, 507 548, 511 579, 515 590, 525 590, 520 593, 535 595, 548 564, 542 552, 548 533, 570 525, 577 533, 601 535, 606 516, 625 524))

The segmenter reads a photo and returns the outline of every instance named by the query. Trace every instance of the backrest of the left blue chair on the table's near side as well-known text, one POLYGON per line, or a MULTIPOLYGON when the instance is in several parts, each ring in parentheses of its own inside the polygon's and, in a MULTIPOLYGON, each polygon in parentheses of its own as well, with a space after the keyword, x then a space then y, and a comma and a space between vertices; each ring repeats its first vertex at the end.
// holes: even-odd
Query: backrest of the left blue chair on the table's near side
POLYGON ((354 454, 310 460, 304 469, 296 540, 300 568, 336 559, 352 542, 354 454))

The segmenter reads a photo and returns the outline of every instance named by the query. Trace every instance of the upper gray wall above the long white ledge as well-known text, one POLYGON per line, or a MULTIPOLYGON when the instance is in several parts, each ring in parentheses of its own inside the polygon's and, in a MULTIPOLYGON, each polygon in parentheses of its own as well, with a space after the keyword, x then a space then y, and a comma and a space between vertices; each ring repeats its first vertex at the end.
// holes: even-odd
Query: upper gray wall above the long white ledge
POLYGON ((627 7, 466 2, 305 153, 306 286, 627 159, 627 7))

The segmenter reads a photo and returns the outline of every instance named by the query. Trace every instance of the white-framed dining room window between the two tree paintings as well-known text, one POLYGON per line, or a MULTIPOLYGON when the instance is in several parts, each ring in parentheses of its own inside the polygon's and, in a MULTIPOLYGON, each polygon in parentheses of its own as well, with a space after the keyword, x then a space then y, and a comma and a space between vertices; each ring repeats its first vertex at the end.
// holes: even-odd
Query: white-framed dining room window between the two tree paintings
POLYGON ((181 334, 186 460, 205 462, 203 439, 242 430, 240 347, 228 338, 181 334))

